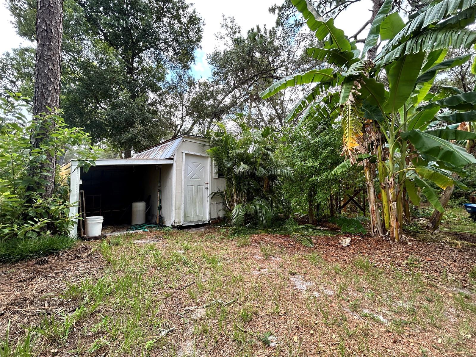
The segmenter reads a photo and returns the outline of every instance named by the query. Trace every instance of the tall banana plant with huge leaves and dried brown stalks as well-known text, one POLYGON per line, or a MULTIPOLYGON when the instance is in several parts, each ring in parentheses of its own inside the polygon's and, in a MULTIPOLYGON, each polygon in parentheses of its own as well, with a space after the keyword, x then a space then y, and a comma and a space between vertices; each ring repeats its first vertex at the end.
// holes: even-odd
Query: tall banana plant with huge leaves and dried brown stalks
POLYGON ((327 38, 322 48, 309 48, 307 53, 326 62, 328 68, 278 80, 261 97, 315 83, 288 118, 338 111, 336 122, 344 129, 342 154, 348 159, 336 172, 357 163, 363 166, 371 234, 400 242, 404 211, 409 219, 408 200, 418 205, 421 191, 442 211, 429 181, 443 189, 453 184, 461 186, 451 173, 464 174, 463 168, 476 162, 473 155, 453 142, 474 140, 476 134, 451 126, 476 120, 476 92, 455 93, 448 88, 429 92, 439 71, 469 60, 469 55, 445 57, 450 46, 469 48, 476 42, 476 32, 468 27, 475 21, 476 0, 434 1, 410 16, 407 23, 398 13, 390 13, 392 1, 385 0, 362 52, 332 19, 325 20, 307 1, 292 3, 316 37, 327 38), (367 51, 377 46, 379 38, 387 43, 375 59, 366 59, 367 51), (383 77, 387 77, 388 85, 383 77), (336 93, 338 105, 332 105, 336 93), (375 180, 380 185, 380 206, 375 180))

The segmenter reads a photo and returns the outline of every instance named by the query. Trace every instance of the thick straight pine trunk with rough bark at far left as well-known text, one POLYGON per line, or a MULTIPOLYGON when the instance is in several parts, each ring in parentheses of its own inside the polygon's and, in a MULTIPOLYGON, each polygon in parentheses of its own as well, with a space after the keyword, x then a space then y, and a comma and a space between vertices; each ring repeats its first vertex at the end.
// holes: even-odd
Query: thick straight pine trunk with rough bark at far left
MULTIPOLYGON (((39 122, 40 129, 32 134, 33 148, 40 148, 44 139, 51 131, 51 122, 45 114, 60 107, 60 78, 61 78, 61 38, 63 36, 63 4, 61 0, 38 0, 36 18, 36 60, 35 84, 33 95, 34 120, 39 122), (50 109, 48 109, 50 108, 50 109)), ((45 152, 47 163, 43 164, 45 184, 44 198, 53 196, 55 183, 56 157, 45 152)), ((41 168, 40 168, 41 169, 41 168)))

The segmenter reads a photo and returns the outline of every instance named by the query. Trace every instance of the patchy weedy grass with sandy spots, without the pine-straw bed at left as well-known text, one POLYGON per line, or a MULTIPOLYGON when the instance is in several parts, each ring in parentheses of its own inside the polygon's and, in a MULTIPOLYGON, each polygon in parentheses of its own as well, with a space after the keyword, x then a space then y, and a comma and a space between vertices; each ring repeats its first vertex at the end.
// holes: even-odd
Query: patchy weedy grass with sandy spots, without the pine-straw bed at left
POLYGON ((55 292, 59 306, 71 308, 24 326, 30 335, 3 342, 8 354, 0 357, 475 352, 474 295, 441 293, 422 278, 416 257, 405 257, 411 271, 402 272, 377 268, 364 254, 237 247, 248 236, 172 231, 167 240, 134 243, 140 235, 90 243, 103 259, 100 274, 55 292))

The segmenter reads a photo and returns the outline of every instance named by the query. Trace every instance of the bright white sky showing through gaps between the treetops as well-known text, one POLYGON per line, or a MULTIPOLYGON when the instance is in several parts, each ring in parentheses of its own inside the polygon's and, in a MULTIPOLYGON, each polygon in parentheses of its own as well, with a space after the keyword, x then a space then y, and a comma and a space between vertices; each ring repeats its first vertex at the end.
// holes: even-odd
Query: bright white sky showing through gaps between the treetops
MULTIPOLYGON (((201 49, 196 52, 196 63, 192 67, 192 72, 197 78, 208 77, 210 71, 207 63, 207 53, 212 52, 215 47, 219 47, 215 39, 215 33, 220 31, 222 14, 235 17, 243 33, 259 24, 271 28, 275 24, 275 16, 268 11, 269 7, 280 0, 193 0, 195 9, 205 21, 203 29, 203 39, 201 49)), ((371 0, 362 0, 352 4, 341 13, 335 25, 351 36, 370 16, 368 9, 372 7, 371 0)), ((5 8, 5 1, 1 0, 0 8, 0 54, 9 51, 11 48, 19 47, 20 44, 27 46, 29 41, 20 38, 11 25, 10 12, 5 8)), ((367 31, 360 35, 365 36, 367 31)))

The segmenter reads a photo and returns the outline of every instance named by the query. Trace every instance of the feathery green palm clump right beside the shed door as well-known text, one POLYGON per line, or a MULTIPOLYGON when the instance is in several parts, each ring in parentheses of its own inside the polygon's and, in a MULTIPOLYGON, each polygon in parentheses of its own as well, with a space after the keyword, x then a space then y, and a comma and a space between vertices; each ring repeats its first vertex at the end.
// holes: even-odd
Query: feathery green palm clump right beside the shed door
POLYGON ((219 123, 210 136, 207 153, 225 178, 225 188, 212 196, 223 198, 233 225, 269 227, 277 216, 274 184, 278 178, 293 178, 292 170, 274 155, 282 131, 248 128, 239 116, 235 124, 228 129, 219 123))

